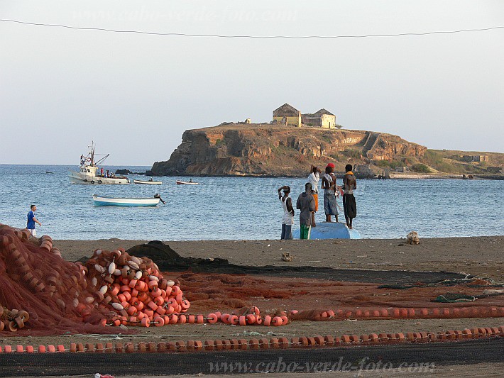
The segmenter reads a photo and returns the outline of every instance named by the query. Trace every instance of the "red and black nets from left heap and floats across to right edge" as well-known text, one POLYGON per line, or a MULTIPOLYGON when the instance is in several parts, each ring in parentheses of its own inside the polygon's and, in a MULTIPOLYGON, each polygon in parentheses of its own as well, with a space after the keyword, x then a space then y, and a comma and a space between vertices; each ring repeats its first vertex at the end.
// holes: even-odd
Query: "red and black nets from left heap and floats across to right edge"
MULTIPOLYGON (((236 319, 250 315, 254 306, 280 317, 297 310, 290 320, 318 321, 324 312, 344 318, 346 311, 365 317, 376 308, 436 308, 431 300, 447 294, 448 283, 451 292, 478 299, 445 306, 504 306, 498 291, 483 294, 496 284, 488 279, 448 272, 239 266, 182 257, 161 242, 128 251, 95 250, 89 259, 67 262, 47 235, 31 239, 28 230, 0 225, 0 328, 21 335, 117 333, 118 328, 104 326, 160 326, 177 323, 177 316, 180 323, 189 308, 191 313, 229 311, 236 319)), ((486 313, 471 314, 465 316, 486 313)), ((195 320, 187 315, 188 322, 191 317, 195 320)), ((196 318, 203 321, 202 315, 196 318)))

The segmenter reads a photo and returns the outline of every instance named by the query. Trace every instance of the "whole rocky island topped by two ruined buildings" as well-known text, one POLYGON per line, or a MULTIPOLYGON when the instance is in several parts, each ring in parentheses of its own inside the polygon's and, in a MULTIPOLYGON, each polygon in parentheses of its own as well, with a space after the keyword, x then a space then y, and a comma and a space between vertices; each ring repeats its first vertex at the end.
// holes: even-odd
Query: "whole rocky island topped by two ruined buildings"
POLYGON ((304 177, 310 165, 327 163, 344 172, 356 165, 358 177, 426 178, 464 174, 502 178, 504 154, 428 150, 398 135, 345 130, 325 109, 301 114, 289 104, 273 111, 270 123, 221 123, 186 130, 182 143, 152 176, 304 177))

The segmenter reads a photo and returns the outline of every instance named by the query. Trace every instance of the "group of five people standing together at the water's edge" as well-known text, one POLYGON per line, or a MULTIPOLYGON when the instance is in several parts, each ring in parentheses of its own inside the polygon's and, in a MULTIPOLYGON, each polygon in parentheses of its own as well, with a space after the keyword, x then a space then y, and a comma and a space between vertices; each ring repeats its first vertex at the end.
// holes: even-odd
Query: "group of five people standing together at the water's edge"
MULTIPOLYGON (((352 228, 352 221, 357 216, 357 205, 354 196, 354 190, 357 189, 353 167, 348 164, 345 167, 343 185, 336 184, 336 175, 334 174, 334 164, 329 163, 322 176, 322 189, 324 189, 324 213, 326 222, 332 222, 332 216, 338 222, 339 205, 336 199, 343 196, 343 211, 345 215, 346 226, 352 228)), ((300 210, 300 239, 309 239, 312 227, 316 227, 315 213, 319 210, 319 181, 322 173, 318 167, 312 165, 308 176, 308 182, 305 184, 305 191, 297 197, 296 209, 300 210)), ((282 202, 282 239, 292 239, 292 224, 294 224, 294 208, 290 198, 290 187, 283 186, 278 189, 278 199, 282 202), (283 191, 283 194, 282 194, 283 191)), ((341 209, 341 208, 340 208, 341 209)))

